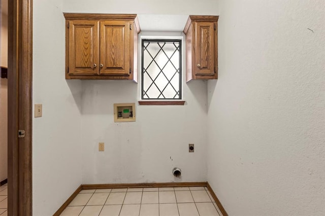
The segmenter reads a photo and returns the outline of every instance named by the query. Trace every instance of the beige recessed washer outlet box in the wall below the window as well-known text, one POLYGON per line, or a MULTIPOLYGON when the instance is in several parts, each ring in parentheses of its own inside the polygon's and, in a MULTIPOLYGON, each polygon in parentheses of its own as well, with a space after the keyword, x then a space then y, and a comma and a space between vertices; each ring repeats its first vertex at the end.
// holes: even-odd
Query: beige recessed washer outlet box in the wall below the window
POLYGON ((114 103, 114 122, 135 122, 136 103, 114 103))

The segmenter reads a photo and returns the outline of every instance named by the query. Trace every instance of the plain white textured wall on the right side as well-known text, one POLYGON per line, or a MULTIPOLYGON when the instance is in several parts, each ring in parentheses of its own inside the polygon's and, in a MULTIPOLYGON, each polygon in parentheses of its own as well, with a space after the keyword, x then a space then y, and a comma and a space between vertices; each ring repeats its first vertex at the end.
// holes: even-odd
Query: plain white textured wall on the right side
POLYGON ((208 182, 230 215, 324 215, 325 2, 219 7, 208 182))

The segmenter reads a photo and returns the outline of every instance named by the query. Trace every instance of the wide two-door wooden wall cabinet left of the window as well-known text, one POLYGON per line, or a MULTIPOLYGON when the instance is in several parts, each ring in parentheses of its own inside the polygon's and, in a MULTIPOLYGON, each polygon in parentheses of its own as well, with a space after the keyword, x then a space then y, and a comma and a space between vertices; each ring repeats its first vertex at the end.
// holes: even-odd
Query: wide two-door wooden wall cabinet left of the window
POLYGON ((137 15, 64 13, 64 17, 66 79, 137 82, 137 15))

